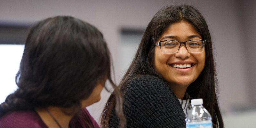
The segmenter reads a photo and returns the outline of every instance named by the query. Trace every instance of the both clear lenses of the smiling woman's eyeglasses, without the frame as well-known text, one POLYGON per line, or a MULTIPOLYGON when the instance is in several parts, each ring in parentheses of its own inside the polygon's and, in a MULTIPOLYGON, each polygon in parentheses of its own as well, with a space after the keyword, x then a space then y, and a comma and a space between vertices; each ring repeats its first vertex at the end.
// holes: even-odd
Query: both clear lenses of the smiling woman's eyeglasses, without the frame
MULTIPOLYGON (((161 43, 161 50, 163 53, 175 53, 178 51, 180 42, 178 41, 164 41, 161 43)), ((191 40, 186 42, 188 52, 198 53, 204 51, 204 41, 191 40)))

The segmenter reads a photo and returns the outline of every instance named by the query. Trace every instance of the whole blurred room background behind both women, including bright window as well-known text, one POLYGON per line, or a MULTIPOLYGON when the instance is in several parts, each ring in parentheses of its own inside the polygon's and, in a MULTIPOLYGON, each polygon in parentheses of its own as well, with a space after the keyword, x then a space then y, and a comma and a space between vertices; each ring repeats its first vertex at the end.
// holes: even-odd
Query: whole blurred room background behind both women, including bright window
MULTIPOLYGON (((26 32, 36 21, 70 15, 97 27, 108 43, 118 83, 149 21, 169 4, 193 5, 208 23, 225 127, 255 126, 252 124, 256 119, 255 0, 0 0, 0 103, 17 89, 15 74, 26 32)), ((103 90, 101 100, 88 107, 97 121, 109 95, 103 90)))

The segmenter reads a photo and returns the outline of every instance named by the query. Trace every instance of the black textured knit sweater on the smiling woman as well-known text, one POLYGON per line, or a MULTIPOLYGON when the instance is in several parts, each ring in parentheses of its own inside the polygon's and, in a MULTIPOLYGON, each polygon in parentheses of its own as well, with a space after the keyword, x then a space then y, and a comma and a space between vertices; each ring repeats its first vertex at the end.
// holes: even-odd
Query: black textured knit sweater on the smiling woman
MULTIPOLYGON (((186 128, 185 114, 172 89, 155 76, 140 76, 130 82, 124 95, 127 128, 186 128)), ((114 113, 110 127, 117 128, 114 113)))

